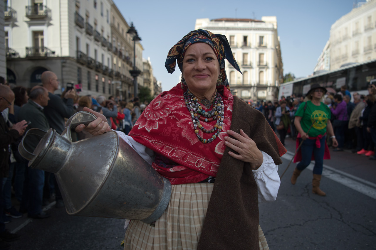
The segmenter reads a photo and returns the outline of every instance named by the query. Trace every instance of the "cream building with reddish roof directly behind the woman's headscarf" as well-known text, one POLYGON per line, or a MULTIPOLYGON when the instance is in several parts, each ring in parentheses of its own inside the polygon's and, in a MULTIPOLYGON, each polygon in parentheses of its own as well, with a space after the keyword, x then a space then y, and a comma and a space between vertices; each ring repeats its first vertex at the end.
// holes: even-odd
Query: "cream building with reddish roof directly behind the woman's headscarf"
POLYGON ((225 69, 233 95, 245 101, 277 98, 279 84, 283 82, 283 64, 276 17, 262 17, 261 20, 197 19, 195 29, 227 37, 243 72, 241 74, 226 61, 225 69))

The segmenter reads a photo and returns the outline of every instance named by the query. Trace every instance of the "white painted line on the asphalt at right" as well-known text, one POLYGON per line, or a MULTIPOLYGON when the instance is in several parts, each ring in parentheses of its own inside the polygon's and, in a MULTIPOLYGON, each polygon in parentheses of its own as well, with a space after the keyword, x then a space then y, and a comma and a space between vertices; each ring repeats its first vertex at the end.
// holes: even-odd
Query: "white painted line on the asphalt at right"
MULTIPOLYGON (((293 158, 293 155, 293 153, 287 152, 287 154, 282 155, 282 158, 290 161, 293 158)), ((313 167, 314 161, 311 161, 307 169, 313 170, 313 167)), ((358 191, 359 193, 365 194, 368 197, 376 199, 376 184, 373 182, 366 181, 325 164, 323 165, 323 176, 358 191)))

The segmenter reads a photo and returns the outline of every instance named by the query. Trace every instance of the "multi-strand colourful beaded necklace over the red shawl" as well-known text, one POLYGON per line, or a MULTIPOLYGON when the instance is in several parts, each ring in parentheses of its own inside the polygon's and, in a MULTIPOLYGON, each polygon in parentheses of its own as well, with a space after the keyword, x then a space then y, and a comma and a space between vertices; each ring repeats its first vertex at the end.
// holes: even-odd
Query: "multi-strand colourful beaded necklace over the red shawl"
POLYGON ((220 93, 215 93, 213 108, 211 110, 209 110, 210 107, 208 109, 203 109, 197 101, 196 96, 194 96, 189 89, 184 92, 184 101, 186 107, 190 111, 194 133, 196 133, 197 138, 203 143, 214 141, 222 130, 224 119, 224 104, 220 93), (211 130, 206 130, 200 123, 200 120, 203 122, 211 122, 215 119, 217 119, 217 123, 215 123, 214 128, 211 130), (199 129, 204 133, 215 133, 210 139, 203 139, 199 134, 199 129))

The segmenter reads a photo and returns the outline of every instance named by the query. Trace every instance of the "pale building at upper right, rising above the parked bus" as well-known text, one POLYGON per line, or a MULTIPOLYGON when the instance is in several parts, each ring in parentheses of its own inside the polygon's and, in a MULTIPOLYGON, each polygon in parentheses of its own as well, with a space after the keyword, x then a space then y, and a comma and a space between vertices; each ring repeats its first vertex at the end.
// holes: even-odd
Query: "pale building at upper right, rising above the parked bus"
POLYGON ((330 30, 330 69, 376 58, 376 0, 356 5, 330 30))

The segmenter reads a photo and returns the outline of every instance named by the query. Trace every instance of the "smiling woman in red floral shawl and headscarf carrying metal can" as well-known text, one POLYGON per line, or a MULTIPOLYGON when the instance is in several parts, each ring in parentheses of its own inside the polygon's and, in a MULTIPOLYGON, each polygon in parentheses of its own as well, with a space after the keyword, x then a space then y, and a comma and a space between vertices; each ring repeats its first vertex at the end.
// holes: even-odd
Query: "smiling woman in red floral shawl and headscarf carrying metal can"
MULTIPOLYGON (((225 36, 184 36, 165 63, 172 73, 177 61, 182 82, 150 102, 129 136, 118 132, 172 184, 155 223, 130 221, 124 249, 268 249, 258 202, 276 199, 286 149, 264 115, 231 94, 225 58, 240 72, 225 36)), ((102 119, 86 130, 108 131, 102 119)))

